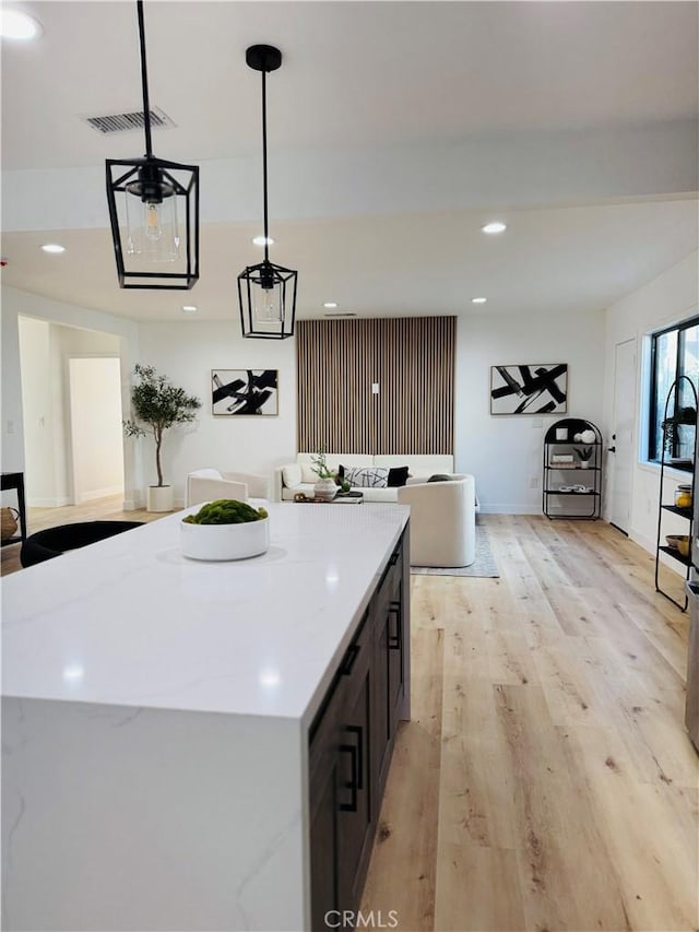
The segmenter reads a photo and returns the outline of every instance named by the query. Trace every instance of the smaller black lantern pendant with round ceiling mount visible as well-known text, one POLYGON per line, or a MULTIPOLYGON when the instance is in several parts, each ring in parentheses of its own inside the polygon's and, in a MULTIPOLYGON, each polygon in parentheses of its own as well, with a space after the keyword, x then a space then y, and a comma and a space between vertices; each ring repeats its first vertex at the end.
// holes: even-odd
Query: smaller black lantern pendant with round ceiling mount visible
POLYGON ((238 275, 240 325, 244 337, 284 340, 294 334, 297 272, 270 262, 270 231, 266 194, 266 73, 282 64, 282 52, 271 45, 253 45, 245 60, 262 72, 262 187, 264 193, 264 259, 238 275))

